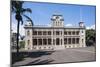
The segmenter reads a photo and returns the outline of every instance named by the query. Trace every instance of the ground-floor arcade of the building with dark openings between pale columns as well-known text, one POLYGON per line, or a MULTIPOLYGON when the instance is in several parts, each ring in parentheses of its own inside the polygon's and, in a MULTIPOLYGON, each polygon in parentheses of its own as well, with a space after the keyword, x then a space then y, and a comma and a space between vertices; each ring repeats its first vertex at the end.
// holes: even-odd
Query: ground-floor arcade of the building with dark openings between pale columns
POLYGON ((61 38, 33 38, 32 49, 63 49, 80 47, 79 37, 61 38))

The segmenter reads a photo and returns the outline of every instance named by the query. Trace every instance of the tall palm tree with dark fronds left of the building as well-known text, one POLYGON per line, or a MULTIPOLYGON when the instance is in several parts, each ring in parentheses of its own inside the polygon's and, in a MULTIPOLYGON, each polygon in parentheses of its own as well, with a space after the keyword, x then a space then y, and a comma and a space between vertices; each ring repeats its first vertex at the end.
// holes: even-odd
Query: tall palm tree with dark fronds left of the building
POLYGON ((17 20, 17 56, 19 54, 19 26, 20 23, 23 24, 23 17, 26 17, 28 21, 31 21, 31 18, 25 15, 25 12, 32 13, 30 8, 23 8, 23 1, 11 1, 11 12, 15 13, 15 19, 17 20))

